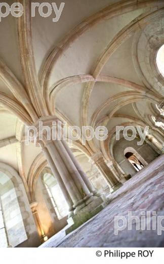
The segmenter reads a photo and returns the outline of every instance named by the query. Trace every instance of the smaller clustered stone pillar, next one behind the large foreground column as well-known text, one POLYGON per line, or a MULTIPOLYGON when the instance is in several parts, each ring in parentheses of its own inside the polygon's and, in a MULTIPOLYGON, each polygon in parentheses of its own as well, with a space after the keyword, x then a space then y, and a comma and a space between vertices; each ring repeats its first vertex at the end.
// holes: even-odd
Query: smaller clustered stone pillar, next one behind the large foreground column
POLYGON ((122 186, 118 178, 113 175, 112 171, 107 166, 101 152, 91 156, 90 162, 92 162, 92 164, 97 167, 101 175, 104 177, 109 186, 110 192, 113 192, 117 190, 120 186, 122 186))

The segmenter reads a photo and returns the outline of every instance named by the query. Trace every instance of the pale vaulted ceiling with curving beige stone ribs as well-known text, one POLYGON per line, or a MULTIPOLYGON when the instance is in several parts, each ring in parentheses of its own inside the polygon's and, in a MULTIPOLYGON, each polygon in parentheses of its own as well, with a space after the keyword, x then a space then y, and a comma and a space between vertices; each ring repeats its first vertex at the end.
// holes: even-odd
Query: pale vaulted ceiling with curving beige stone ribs
POLYGON ((152 105, 164 97, 163 80, 149 65, 164 43, 163 1, 66 0, 58 22, 53 13, 30 18, 30 1, 20 3, 26 15, 0 23, 2 162, 27 178, 42 154, 21 142, 24 124, 41 110, 78 126, 105 124, 109 131, 150 122, 152 105))

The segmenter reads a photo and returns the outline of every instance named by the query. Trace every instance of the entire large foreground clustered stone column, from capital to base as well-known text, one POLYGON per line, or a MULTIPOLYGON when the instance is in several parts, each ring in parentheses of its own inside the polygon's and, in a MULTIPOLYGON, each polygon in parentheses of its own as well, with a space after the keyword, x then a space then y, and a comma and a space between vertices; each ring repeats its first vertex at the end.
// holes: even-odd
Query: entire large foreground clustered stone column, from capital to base
POLYGON ((70 210, 73 207, 72 215, 67 220, 69 227, 66 229, 66 233, 69 233, 100 212, 106 206, 106 200, 104 201, 104 197, 95 195, 95 191, 90 185, 87 176, 79 167, 74 156, 72 156, 67 143, 64 142, 64 137, 63 140, 61 139, 61 122, 58 119, 54 119, 54 117, 45 117, 42 118, 41 129, 39 125, 38 120, 34 124, 35 128, 38 129, 35 142, 40 145, 45 153, 50 168, 56 176, 70 206, 70 210), (54 138, 52 137, 53 135, 51 137, 49 135, 52 121, 57 121, 56 123, 59 124, 57 129, 55 129, 57 135, 55 140, 52 140, 54 138))

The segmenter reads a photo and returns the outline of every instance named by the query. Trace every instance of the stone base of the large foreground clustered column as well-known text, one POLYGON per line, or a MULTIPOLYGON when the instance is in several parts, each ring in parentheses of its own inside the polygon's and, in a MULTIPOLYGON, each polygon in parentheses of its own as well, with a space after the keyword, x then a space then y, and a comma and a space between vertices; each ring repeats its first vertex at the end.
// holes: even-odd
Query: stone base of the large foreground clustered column
POLYGON ((92 198, 93 200, 91 203, 68 218, 67 222, 69 227, 65 230, 66 235, 79 227, 81 224, 88 221, 94 215, 98 214, 106 206, 106 203, 103 201, 101 196, 93 196, 92 198))

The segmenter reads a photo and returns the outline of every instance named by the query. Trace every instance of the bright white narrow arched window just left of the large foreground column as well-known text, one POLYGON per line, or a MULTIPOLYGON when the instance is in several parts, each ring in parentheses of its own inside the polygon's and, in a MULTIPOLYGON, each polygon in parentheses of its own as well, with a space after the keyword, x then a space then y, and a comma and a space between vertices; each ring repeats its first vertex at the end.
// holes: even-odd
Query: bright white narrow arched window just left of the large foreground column
POLYGON ((50 173, 44 174, 43 180, 58 219, 65 217, 68 215, 68 205, 57 180, 50 173))

